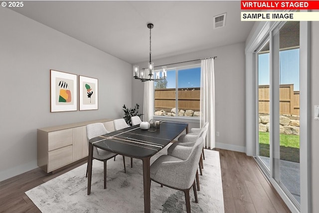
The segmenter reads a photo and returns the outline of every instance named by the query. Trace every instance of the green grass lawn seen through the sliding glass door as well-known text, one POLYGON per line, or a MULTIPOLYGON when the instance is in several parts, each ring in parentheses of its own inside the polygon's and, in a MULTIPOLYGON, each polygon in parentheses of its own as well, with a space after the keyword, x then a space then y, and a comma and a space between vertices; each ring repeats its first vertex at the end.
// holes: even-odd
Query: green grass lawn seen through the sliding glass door
MULTIPOLYGON (((280 134, 280 159, 299 163, 299 135, 280 134)), ((269 157, 269 132, 259 132, 259 155, 269 157)))

